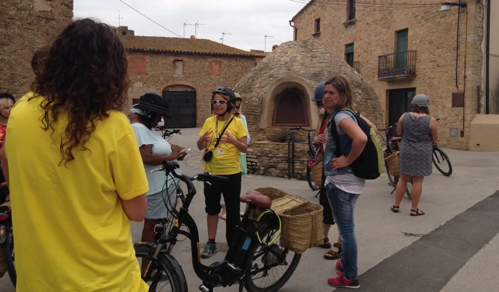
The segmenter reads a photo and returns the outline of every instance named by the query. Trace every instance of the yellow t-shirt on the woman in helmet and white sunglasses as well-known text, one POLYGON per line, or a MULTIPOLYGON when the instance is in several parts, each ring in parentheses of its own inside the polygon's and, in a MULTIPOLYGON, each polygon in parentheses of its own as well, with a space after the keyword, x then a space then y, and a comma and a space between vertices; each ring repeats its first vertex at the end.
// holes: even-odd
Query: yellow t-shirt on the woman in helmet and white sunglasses
MULTIPOLYGON (((203 136, 206 132, 213 131, 210 134, 213 143, 208 143, 206 148, 212 150, 214 155, 210 162, 205 162, 205 172, 214 175, 234 175, 240 173, 241 152, 239 152, 236 146, 231 143, 220 143, 217 149, 214 149, 217 143, 216 135, 220 135, 226 124, 231 120, 232 115, 226 121, 217 122, 217 117, 217 115, 214 115, 207 118, 203 128, 199 132, 199 135, 203 136)), ((248 136, 248 130, 246 130, 243 120, 238 117, 234 117, 226 132, 231 133, 238 140, 248 136)))

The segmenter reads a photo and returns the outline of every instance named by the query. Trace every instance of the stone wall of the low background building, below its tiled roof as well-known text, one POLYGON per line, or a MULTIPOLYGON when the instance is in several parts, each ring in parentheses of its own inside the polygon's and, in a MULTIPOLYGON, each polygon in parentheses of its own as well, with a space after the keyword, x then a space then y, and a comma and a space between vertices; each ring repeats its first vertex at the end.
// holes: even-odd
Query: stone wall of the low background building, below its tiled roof
MULTIPOLYGON (((196 89, 197 125, 202 126, 211 114, 212 91, 221 86, 233 88, 254 67, 253 57, 218 57, 128 51, 131 87, 129 98, 147 92, 162 94, 163 89, 180 84, 196 89), (183 75, 174 75, 174 60, 183 61, 183 75), (214 76, 212 61, 221 62, 220 76, 214 76)), ((130 102, 130 105, 132 102, 130 102)))

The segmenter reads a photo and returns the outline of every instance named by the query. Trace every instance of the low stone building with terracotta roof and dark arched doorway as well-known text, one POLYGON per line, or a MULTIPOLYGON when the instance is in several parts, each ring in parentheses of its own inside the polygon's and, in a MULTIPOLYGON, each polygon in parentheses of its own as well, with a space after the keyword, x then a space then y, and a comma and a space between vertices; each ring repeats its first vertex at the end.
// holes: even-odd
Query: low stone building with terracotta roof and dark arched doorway
POLYGON ((131 104, 148 92, 170 102, 168 127, 202 126, 218 87, 234 87, 265 53, 248 52, 207 39, 134 36, 120 27, 127 49, 131 104))

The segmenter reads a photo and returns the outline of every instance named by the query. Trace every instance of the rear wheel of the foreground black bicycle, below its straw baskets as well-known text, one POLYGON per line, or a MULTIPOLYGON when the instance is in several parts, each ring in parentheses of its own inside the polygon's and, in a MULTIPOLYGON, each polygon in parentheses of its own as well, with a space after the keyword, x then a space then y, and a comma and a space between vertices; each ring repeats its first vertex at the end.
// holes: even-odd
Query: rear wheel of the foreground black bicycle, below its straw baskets
POLYGON ((262 238, 262 242, 265 243, 263 248, 260 244, 253 244, 250 247, 245 265, 245 271, 249 273, 245 279, 245 288, 248 292, 274 292, 279 290, 286 284, 300 262, 301 255, 280 246, 280 235, 267 247, 276 232, 277 229, 270 230, 262 238), (280 254, 284 259, 279 260, 270 250, 280 254), (270 265, 274 266, 267 269, 270 265))

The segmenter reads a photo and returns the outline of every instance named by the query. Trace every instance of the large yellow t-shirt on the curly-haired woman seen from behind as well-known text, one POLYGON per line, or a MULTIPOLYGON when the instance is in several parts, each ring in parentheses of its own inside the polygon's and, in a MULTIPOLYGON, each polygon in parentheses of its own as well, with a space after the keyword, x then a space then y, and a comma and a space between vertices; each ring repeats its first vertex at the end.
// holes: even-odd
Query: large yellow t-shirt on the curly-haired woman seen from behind
POLYGON ((59 115, 44 131, 42 97, 12 108, 5 154, 9 167, 17 292, 147 292, 121 207, 148 191, 137 140, 117 111, 96 123, 75 160, 61 163, 59 115))

